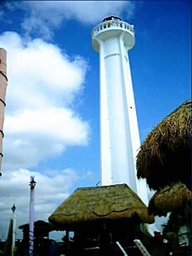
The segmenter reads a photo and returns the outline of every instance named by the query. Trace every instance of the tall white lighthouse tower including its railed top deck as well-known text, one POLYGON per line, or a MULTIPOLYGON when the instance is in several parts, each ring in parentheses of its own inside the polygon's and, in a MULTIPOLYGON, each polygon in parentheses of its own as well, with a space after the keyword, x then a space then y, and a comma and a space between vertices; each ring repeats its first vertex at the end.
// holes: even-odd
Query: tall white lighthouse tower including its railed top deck
POLYGON ((138 181, 135 158, 140 146, 129 49, 134 26, 111 16, 93 28, 99 53, 101 184, 127 183, 148 204, 145 181, 138 181))

